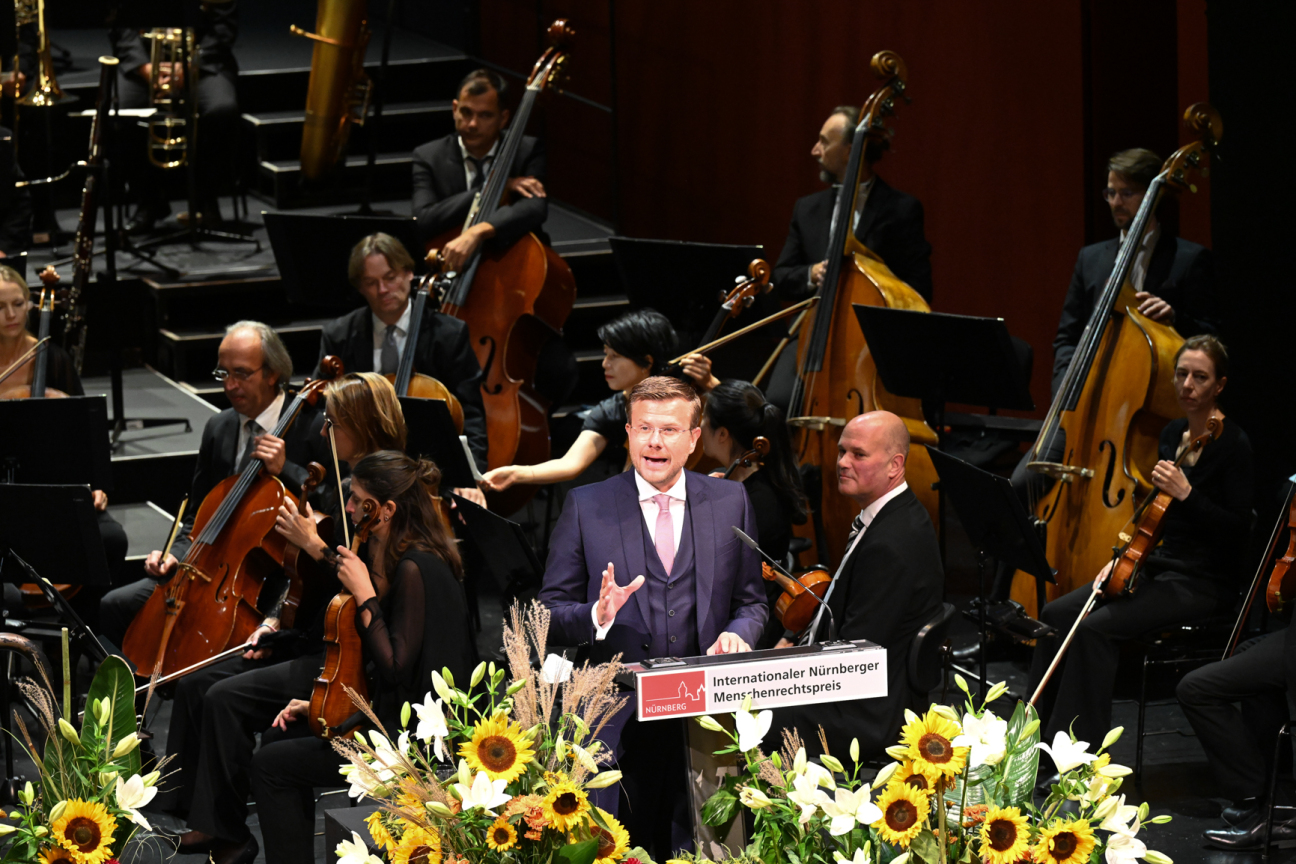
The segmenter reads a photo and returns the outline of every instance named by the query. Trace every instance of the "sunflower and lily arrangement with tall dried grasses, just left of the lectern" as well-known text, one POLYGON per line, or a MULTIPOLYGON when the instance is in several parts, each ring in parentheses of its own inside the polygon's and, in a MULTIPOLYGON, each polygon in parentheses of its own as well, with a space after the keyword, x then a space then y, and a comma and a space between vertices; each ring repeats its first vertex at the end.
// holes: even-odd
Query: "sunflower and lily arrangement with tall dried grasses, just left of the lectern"
MULTIPOLYGON (((603 767, 612 754, 596 740, 625 702, 614 681, 619 663, 572 668, 548 657, 533 675, 531 650, 546 657, 548 628, 543 606, 524 614, 515 605, 504 627, 511 683, 495 663, 478 665, 465 689, 448 670, 434 672, 433 692, 404 705, 394 737, 356 699, 375 729, 334 747, 349 759, 341 771, 350 794, 380 802, 369 836, 393 863, 626 858, 626 829, 588 795, 621 779, 603 767)), ((367 846, 353 833, 337 847, 340 863, 381 864, 367 846)))

